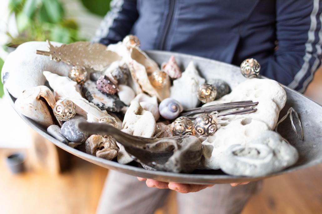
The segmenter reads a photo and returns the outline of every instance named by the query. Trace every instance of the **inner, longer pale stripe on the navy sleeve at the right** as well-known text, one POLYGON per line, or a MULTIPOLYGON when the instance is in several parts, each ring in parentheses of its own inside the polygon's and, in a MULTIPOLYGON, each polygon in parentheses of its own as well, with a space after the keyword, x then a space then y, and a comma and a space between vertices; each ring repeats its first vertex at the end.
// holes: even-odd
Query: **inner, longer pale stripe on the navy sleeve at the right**
POLYGON ((317 19, 316 15, 319 10, 319 0, 313 1, 313 9, 310 14, 310 29, 308 30, 308 41, 305 43, 305 55, 303 57, 304 63, 298 73, 295 75, 293 81, 289 84, 290 88, 298 87, 299 82, 303 79, 305 74, 308 72, 309 69, 309 61, 312 58, 312 51, 313 51, 313 42, 315 40, 315 30, 317 28, 317 19))

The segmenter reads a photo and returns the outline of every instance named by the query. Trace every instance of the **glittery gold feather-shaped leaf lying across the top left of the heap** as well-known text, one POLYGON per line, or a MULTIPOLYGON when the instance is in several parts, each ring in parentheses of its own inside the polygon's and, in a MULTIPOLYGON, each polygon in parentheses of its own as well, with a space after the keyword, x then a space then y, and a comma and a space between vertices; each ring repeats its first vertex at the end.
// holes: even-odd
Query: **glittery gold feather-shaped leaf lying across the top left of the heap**
POLYGON ((68 65, 103 71, 112 62, 120 60, 120 56, 117 53, 106 50, 106 46, 103 44, 74 42, 56 47, 50 41, 47 40, 47 42, 49 51, 37 50, 36 53, 50 56, 51 60, 56 62, 63 61, 68 65))

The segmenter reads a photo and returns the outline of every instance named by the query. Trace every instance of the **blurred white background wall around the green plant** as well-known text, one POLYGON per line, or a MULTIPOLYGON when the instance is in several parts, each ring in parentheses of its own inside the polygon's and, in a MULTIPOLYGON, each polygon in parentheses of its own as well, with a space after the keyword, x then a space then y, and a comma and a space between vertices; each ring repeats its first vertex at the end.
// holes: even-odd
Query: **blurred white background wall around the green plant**
MULTIPOLYGON (((9 0, 1 0, 0 6, 0 46, 9 40, 5 35, 9 31, 12 35, 17 34, 14 15, 8 11, 9 0)), ((80 1, 63 0, 66 6, 66 16, 76 20, 80 27, 81 38, 90 40, 94 36, 96 28, 102 17, 88 12, 80 1)), ((6 58, 7 52, 0 48, 0 58, 6 58)), ((31 145, 30 128, 10 106, 7 98, 0 98, 0 148, 25 148, 31 145)))

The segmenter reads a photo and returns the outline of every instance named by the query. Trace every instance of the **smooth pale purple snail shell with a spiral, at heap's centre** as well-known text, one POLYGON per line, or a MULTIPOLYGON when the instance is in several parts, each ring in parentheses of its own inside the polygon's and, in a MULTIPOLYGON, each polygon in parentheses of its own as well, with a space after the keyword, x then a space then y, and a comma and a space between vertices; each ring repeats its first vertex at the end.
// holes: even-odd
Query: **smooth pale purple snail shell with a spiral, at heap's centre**
POLYGON ((162 100, 159 105, 160 115, 167 120, 175 119, 182 111, 182 105, 172 98, 162 100))

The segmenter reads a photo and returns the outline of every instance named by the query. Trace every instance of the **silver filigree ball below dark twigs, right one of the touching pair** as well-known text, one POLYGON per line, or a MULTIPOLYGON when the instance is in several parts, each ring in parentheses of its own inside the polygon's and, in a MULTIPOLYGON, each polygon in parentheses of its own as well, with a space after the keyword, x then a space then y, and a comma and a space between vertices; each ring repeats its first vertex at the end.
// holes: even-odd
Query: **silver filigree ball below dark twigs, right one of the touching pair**
POLYGON ((194 120, 194 130, 201 136, 213 135, 217 131, 217 122, 210 114, 202 114, 194 120))

